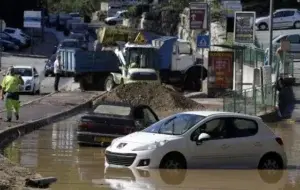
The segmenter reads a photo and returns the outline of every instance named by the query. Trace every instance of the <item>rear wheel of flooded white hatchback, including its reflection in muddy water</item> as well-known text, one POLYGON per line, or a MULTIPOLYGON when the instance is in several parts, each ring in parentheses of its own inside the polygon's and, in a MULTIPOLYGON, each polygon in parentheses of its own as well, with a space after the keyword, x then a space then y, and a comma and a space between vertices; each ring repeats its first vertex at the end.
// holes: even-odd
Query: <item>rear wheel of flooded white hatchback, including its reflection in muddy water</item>
POLYGON ((269 184, 277 183, 283 176, 283 161, 276 153, 263 156, 258 165, 261 179, 269 184))

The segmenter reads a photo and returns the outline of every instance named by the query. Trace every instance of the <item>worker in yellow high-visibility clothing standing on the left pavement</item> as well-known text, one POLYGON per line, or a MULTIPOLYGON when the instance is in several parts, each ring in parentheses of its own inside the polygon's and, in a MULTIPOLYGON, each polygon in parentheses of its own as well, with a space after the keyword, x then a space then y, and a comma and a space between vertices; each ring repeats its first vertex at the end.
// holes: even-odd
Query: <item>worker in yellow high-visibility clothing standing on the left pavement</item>
POLYGON ((24 81, 21 76, 16 75, 14 68, 10 67, 7 74, 3 78, 1 83, 1 99, 5 101, 5 109, 7 122, 11 122, 12 112, 15 113, 16 120, 19 119, 20 100, 19 89, 20 85, 24 85, 24 81))

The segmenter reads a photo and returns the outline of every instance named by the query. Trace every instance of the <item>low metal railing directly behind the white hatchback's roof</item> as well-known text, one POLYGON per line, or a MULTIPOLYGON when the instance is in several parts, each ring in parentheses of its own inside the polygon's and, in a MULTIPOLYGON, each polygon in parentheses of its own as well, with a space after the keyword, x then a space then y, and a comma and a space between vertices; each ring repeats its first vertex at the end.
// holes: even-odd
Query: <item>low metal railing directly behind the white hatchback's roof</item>
POLYGON ((241 94, 232 91, 223 98, 223 110, 249 115, 264 114, 274 109, 275 93, 273 84, 245 89, 241 94))

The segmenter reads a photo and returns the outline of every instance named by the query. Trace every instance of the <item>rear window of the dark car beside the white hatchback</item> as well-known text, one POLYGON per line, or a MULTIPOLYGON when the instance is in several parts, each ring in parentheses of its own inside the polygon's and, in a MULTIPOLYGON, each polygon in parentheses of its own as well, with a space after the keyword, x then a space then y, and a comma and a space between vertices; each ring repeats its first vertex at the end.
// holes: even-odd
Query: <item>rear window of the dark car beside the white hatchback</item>
POLYGON ((119 106, 119 105, 99 105, 94 110, 94 113, 119 115, 119 116, 128 116, 130 115, 130 112, 131 112, 130 107, 119 106))

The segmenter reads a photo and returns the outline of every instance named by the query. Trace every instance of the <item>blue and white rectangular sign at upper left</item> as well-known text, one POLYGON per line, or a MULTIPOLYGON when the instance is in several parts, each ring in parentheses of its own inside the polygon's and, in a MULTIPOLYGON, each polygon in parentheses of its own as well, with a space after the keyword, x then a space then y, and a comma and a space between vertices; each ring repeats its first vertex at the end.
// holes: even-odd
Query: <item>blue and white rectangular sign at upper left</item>
POLYGON ((41 28, 42 12, 41 11, 24 11, 24 28, 41 28))

